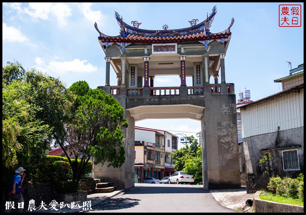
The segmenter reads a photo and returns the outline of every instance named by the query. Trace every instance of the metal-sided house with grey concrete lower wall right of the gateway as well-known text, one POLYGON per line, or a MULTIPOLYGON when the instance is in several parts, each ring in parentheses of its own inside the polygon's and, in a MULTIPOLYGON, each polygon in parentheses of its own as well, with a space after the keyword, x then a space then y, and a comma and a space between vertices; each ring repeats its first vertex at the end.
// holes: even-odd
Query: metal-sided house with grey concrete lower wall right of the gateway
POLYGON ((247 193, 265 189, 271 176, 304 173, 304 64, 274 80, 282 91, 237 107, 241 113, 242 151, 247 193), (260 163, 271 154, 269 164, 260 163))

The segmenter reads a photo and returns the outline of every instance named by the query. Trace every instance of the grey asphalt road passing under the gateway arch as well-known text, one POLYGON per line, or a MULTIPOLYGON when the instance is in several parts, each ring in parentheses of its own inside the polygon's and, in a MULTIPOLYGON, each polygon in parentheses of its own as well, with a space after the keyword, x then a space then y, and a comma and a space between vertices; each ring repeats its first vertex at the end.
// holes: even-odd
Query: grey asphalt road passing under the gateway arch
POLYGON ((199 185, 135 183, 120 194, 78 213, 237 213, 221 206, 199 185))

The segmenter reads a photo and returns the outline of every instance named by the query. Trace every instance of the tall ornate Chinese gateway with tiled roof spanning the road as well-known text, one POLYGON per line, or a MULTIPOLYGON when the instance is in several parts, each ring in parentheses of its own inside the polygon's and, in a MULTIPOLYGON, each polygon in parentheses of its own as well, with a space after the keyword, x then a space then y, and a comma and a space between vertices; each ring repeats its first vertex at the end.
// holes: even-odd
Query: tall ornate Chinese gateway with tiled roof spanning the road
POLYGON ((119 169, 96 166, 96 178, 114 181, 121 189, 133 187, 135 121, 189 118, 201 121, 203 186, 241 187, 236 95, 234 84, 225 81, 224 65, 234 19, 214 33, 210 29, 216 13, 215 6, 200 23, 186 20, 188 28, 170 30, 165 23, 160 30, 144 30, 141 22, 131 21, 131 26, 115 12, 117 36, 105 35, 95 23, 106 61, 105 86, 99 88, 121 104, 129 123, 123 131, 125 164, 119 169), (110 86, 110 66, 117 86, 110 86), (177 75, 180 86, 154 87, 156 76, 167 75, 177 75), (186 78, 192 79, 192 86, 186 85, 186 78))

